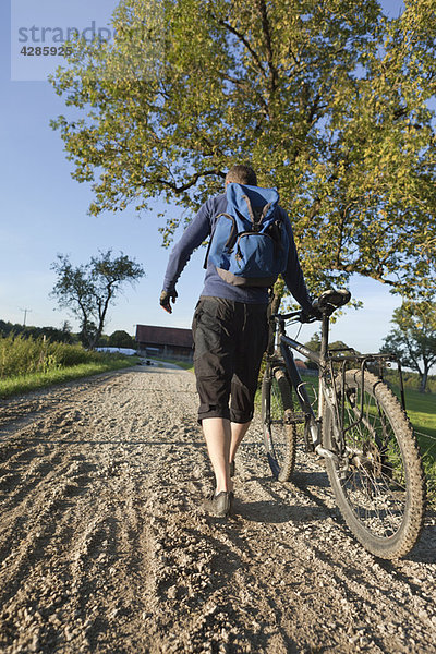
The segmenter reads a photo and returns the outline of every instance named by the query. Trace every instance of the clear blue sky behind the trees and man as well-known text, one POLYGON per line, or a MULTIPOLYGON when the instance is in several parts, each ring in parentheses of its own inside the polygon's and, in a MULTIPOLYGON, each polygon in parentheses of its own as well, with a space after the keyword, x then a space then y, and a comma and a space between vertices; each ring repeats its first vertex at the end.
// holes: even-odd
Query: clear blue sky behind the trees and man
MULTIPOLYGON (((29 73, 21 66, 17 50, 21 44, 15 32, 19 22, 31 16, 31 10, 34 14, 39 12, 47 25, 52 24, 49 12, 56 5, 58 24, 59 16, 63 25, 73 24, 74 16, 80 16, 84 27, 92 21, 104 26, 116 4, 113 0, 12 0, 12 11, 8 2, 0 5, 3 50, 0 63, 0 319, 23 323, 24 310, 27 310, 27 325, 58 327, 70 319, 76 328, 71 316, 58 311, 55 300, 49 298, 56 281, 50 265, 58 253, 69 254, 72 263, 78 265, 98 250, 112 249, 140 262, 146 277, 133 289, 126 287, 119 296, 110 311, 107 334, 116 329, 134 334, 136 324, 191 326, 193 307, 203 286, 204 252, 192 256, 178 284, 174 312, 171 316, 166 314, 158 298, 169 252, 161 246, 158 232, 162 225, 156 217, 159 207, 156 213, 141 218, 129 208, 122 214, 87 216, 92 201, 89 185, 78 184, 71 178, 72 165, 65 159, 63 142, 49 126, 50 119, 66 112, 63 100, 47 82, 16 81, 38 76, 37 71, 29 73), (11 74, 15 80, 11 80, 11 74)), ((390 15, 398 15, 403 7, 397 0, 384 0, 382 4, 390 15)), ((173 210, 175 215, 181 214, 180 208, 173 210)), ((363 301, 365 308, 348 310, 334 325, 332 338, 361 351, 377 351, 389 330, 399 299, 373 280, 353 279, 350 290, 363 301)), ((313 327, 305 327, 302 340, 308 340, 313 331, 313 327)))

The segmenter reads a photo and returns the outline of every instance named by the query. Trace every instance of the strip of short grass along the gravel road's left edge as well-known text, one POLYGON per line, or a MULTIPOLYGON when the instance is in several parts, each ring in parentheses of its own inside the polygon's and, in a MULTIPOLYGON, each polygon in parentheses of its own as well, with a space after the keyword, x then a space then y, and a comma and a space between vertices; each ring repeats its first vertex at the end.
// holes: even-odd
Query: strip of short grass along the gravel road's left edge
POLYGON ((137 356, 107 356, 101 361, 80 363, 68 367, 50 370, 44 373, 31 373, 0 379, 0 399, 11 398, 16 395, 62 384, 72 379, 90 377, 110 371, 121 370, 137 364, 137 356))

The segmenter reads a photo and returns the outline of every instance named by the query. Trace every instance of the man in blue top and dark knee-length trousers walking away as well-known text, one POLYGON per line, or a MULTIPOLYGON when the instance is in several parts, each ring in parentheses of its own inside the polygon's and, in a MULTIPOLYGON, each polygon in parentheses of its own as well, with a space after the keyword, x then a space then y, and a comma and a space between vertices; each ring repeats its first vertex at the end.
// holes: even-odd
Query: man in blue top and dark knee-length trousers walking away
MULTIPOLYGON (((226 186, 231 183, 257 186, 256 173, 249 166, 234 166, 226 175, 226 186)), ((214 233, 217 217, 226 208, 226 194, 208 199, 171 252, 160 296, 160 304, 167 312, 172 312, 170 300, 175 302, 175 283, 192 252, 214 233)), ((311 314, 312 302, 291 225, 286 211, 281 207, 278 210, 282 214, 290 243, 282 276, 303 311, 311 314)), ((201 402, 198 422, 216 479, 215 494, 205 502, 205 508, 215 516, 223 517, 231 510, 234 456, 253 417, 257 377, 267 346, 267 306, 268 289, 232 286, 208 263, 192 329, 201 402)))

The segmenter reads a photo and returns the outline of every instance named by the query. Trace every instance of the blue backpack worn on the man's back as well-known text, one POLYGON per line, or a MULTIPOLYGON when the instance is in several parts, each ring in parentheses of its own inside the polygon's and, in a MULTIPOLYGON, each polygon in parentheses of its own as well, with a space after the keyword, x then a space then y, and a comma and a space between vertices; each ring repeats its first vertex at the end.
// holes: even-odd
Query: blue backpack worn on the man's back
POLYGON ((206 254, 228 283, 270 287, 286 269, 289 239, 276 189, 231 183, 206 254))

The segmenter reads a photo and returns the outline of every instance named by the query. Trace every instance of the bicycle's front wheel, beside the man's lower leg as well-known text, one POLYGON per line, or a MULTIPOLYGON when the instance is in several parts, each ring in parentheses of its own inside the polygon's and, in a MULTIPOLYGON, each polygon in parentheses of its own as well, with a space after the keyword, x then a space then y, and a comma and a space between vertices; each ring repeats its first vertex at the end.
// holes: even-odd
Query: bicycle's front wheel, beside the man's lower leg
POLYGON ((282 367, 267 368, 262 384, 264 444, 272 475, 287 482, 295 465, 296 425, 291 384, 282 367))

